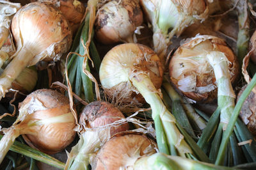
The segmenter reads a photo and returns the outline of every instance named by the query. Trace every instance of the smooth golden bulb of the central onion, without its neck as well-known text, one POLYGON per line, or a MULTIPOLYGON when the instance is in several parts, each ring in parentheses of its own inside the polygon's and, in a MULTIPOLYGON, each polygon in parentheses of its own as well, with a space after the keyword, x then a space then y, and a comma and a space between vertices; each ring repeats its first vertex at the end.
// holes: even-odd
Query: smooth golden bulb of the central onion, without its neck
POLYGON ((104 93, 116 102, 134 105, 145 103, 144 98, 127 79, 129 76, 127 72, 131 75, 145 72, 156 89, 161 87, 163 81, 161 62, 156 53, 145 45, 125 43, 113 47, 102 60, 99 73, 104 93), (110 70, 104 65, 113 65, 113 69, 110 70))

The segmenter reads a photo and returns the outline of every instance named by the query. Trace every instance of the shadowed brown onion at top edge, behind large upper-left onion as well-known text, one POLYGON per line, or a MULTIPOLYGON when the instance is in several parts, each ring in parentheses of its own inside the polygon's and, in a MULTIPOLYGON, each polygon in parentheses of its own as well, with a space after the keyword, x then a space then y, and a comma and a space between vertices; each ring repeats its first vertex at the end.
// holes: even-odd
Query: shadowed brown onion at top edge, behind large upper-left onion
POLYGON ((38 0, 56 6, 68 20, 72 33, 76 33, 85 12, 84 4, 78 0, 38 0))

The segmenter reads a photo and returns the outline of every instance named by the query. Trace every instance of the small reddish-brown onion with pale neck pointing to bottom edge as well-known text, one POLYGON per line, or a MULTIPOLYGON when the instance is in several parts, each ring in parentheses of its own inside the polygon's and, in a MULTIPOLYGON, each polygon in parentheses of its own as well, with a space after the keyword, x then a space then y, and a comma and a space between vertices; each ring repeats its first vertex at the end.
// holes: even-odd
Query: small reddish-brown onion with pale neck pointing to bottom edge
POLYGON ((129 130, 124 115, 108 102, 92 102, 81 112, 79 124, 83 127, 80 140, 68 154, 65 169, 87 169, 90 154, 99 150, 112 135, 129 130))

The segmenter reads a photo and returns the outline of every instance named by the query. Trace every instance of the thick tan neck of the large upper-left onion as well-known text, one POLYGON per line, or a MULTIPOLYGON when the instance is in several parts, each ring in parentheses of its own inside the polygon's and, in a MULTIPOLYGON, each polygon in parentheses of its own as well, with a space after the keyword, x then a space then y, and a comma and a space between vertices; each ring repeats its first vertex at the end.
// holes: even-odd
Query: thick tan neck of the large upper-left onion
POLYGON ((11 88, 12 82, 20 75, 22 70, 26 68, 29 62, 34 58, 33 52, 27 50, 24 46, 12 61, 6 66, 4 72, 0 76, 0 100, 11 88))

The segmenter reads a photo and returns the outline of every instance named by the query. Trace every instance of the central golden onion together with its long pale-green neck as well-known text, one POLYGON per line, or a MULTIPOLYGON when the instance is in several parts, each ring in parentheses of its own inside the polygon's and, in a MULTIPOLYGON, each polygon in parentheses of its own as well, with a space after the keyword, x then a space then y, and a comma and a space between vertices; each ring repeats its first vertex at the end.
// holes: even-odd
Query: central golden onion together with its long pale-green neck
MULTIPOLYGON (((159 88, 163 68, 152 49, 135 43, 117 45, 102 60, 99 75, 104 93, 110 98, 131 104, 145 99, 144 102, 150 104, 161 153, 181 157, 193 155, 195 150, 185 141, 177 121, 161 100, 159 88)), ((207 161, 206 155, 196 156, 207 161)))

